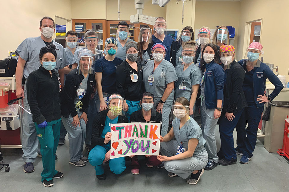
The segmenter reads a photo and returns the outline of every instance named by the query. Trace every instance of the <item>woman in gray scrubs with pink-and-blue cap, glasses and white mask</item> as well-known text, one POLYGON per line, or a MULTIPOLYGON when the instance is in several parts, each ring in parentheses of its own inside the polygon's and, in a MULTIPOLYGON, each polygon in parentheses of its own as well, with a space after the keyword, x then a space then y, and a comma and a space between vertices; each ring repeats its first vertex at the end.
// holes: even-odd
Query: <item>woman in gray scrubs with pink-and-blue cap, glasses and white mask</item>
POLYGON ((174 84, 178 80, 173 64, 164 59, 167 48, 162 43, 152 47, 153 61, 148 61, 143 69, 145 91, 155 96, 156 111, 163 117, 161 135, 167 134, 169 116, 174 101, 174 84))

